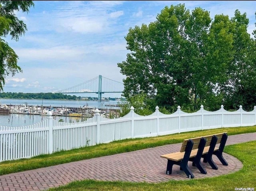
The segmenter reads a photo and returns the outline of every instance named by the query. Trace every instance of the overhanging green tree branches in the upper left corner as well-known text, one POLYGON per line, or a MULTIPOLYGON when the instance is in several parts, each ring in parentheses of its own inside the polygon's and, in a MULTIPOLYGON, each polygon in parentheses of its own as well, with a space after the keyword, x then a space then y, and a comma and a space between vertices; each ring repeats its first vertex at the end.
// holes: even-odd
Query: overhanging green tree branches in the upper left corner
POLYGON ((19 36, 25 34, 26 24, 16 17, 15 12, 28 13, 32 6, 33 1, 0 1, 0 91, 3 90, 6 76, 22 72, 18 66, 18 55, 4 38, 10 35, 18 41, 19 36))

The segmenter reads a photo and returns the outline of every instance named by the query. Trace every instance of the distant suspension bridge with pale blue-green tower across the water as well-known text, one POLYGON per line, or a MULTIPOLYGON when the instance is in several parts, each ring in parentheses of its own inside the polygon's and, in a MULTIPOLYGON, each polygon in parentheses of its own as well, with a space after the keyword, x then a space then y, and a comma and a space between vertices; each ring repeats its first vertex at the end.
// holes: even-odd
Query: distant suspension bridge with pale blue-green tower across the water
POLYGON ((111 80, 105 78, 101 75, 88 80, 82 84, 78 84, 76 86, 72 86, 70 88, 66 88, 64 90, 60 90, 54 93, 61 94, 79 94, 79 93, 94 93, 98 94, 98 100, 102 99, 102 94, 104 93, 122 93, 124 90, 124 83, 117 82, 115 80, 111 80))

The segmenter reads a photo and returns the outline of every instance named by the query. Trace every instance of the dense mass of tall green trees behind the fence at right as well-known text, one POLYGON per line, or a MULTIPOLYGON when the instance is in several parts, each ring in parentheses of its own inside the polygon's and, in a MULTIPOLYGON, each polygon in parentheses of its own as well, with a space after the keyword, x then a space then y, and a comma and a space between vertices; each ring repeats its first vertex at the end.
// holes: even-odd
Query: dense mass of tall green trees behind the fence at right
POLYGON ((155 22, 130 28, 125 37, 130 53, 118 63, 126 75, 123 96, 129 100, 146 94, 169 111, 178 105, 251 107, 256 54, 247 27, 246 14, 238 10, 233 18, 220 14, 212 20, 202 8, 190 12, 184 4, 166 6, 155 22))

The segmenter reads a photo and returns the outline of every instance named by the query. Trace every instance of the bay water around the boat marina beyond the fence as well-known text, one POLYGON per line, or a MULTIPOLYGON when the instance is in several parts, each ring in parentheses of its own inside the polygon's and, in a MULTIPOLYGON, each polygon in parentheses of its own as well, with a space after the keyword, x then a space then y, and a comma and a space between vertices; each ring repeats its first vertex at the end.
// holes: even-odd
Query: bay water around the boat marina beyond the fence
MULTIPOLYGON (((88 105, 97 109, 119 109, 116 105, 120 101, 87 101, 87 100, 52 100, 52 99, 0 99, 2 105, 39 105, 43 107, 83 107, 88 105)), ((46 115, 29 115, 18 113, 0 113, 0 126, 22 127, 33 125, 46 119, 46 115)), ((56 120, 63 119, 67 123, 75 123, 84 120, 84 117, 52 116, 56 120)))

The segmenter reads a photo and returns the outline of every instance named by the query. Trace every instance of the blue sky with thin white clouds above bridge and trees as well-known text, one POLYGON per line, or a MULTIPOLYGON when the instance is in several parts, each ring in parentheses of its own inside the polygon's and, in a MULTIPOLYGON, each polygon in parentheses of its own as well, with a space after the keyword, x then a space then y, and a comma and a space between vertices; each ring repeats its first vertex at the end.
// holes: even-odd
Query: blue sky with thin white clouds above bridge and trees
POLYGON ((6 39, 23 72, 6 78, 4 92, 56 92, 99 75, 122 82, 117 63, 126 60, 129 28, 154 22, 165 6, 180 3, 208 10, 211 18, 231 18, 238 9, 250 20, 248 33, 256 28, 256 1, 34 1, 28 14, 16 13, 28 31, 18 42, 6 39))

